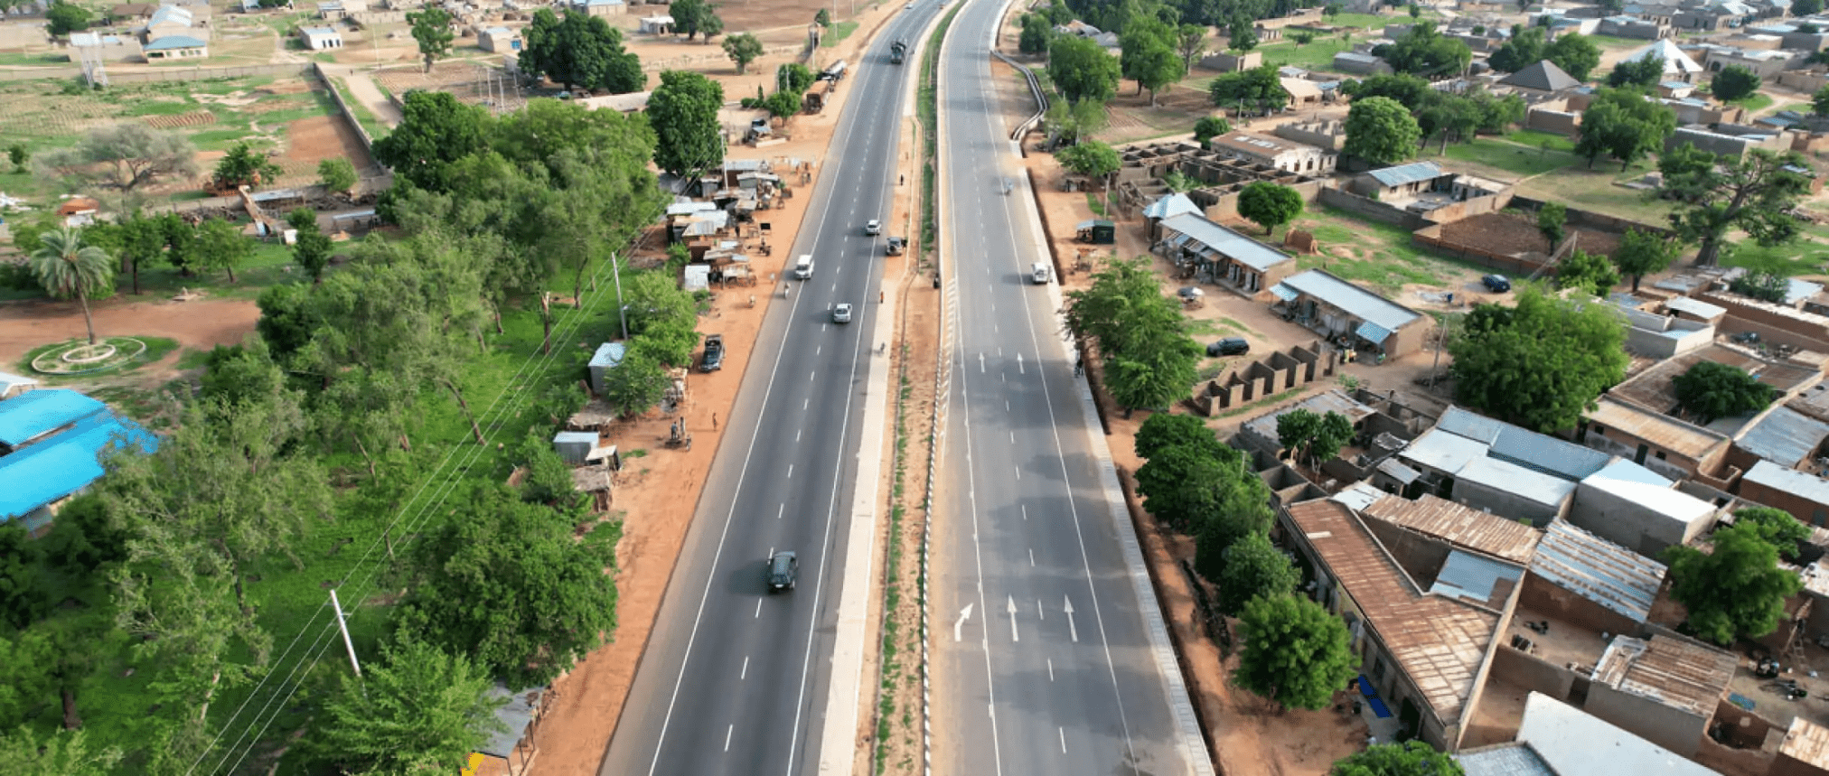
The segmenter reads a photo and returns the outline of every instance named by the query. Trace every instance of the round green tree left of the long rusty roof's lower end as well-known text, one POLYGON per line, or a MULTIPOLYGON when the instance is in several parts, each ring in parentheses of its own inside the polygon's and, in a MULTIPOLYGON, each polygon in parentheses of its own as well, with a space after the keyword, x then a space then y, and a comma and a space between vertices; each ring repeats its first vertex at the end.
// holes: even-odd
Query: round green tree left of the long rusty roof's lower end
POLYGON ((1233 681, 1286 708, 1326 708, 1357 674, 1346 624, 1313 600, 1255 598, 1238 630, 1246 650, 1233 681))

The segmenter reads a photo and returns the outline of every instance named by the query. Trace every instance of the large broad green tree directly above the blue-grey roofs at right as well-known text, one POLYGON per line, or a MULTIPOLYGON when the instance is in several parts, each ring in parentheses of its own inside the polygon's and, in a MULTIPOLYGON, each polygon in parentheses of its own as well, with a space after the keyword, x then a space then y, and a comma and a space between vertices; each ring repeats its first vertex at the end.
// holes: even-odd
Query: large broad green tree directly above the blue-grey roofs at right
POLYGON ((1454 399, 1538 432, 1573 428, 1626 377, 1626 324, 1608 306, 1525 289, 1516 307, 1481 304, 1449 342, 1454 399))

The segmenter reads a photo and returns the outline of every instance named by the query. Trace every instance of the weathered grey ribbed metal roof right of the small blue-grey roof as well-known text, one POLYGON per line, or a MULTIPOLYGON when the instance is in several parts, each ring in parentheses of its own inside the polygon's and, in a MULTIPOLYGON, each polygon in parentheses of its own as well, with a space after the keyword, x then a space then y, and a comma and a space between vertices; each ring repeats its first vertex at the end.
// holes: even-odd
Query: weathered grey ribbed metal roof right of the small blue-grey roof
POLYGON ((1536 544, 1531 573, 1633 622, 1652 617, 1657 587, 1664 584, 1664 564, 1560 520, 1536 544))

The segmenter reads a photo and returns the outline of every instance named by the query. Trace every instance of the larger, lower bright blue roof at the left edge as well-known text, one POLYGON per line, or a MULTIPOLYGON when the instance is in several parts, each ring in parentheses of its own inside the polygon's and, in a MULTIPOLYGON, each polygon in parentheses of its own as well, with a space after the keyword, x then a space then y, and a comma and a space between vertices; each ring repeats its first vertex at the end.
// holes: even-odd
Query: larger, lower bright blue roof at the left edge
POLYGON ((134 421, 102 410, 82 417, 75 428, 0 456, 0 483, 5 483, 0 487, 0 520, 24 516, 88 487, 102 476, 97 456, 123 441, 143 452, 159 448, 159 437, 134 421))

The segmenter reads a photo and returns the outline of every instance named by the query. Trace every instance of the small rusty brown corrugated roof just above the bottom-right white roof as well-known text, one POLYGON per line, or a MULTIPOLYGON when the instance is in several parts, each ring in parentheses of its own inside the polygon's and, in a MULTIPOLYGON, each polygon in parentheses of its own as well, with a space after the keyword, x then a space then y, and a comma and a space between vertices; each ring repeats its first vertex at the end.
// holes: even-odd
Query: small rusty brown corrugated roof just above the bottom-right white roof
POLYGON ((1595 663, 1595 681, 1701 717, 1714 714, 1734 679, 1730 652, 1653 635, 1615 637, 1595 663))

